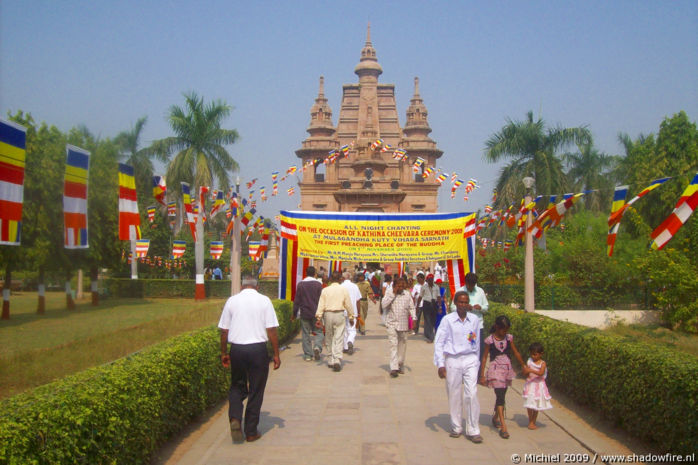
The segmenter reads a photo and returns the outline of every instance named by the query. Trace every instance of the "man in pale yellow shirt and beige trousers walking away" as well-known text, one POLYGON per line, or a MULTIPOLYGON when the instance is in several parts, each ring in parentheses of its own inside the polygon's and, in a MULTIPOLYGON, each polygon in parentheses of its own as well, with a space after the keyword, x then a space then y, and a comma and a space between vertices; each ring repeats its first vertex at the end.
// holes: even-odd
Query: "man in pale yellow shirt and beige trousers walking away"
POLYGON ((351 301, 349 291, 339 285, 342 274, 339 271, 332 273, 331 283, 320 293, 317 312, 317 321, 325 323, 325 340, 329 349, 327 366, 334 371, 342 370, 342 347, 344 346, 344 311, 350 315, 349 322, 353 323, 356 303, 351 301))

